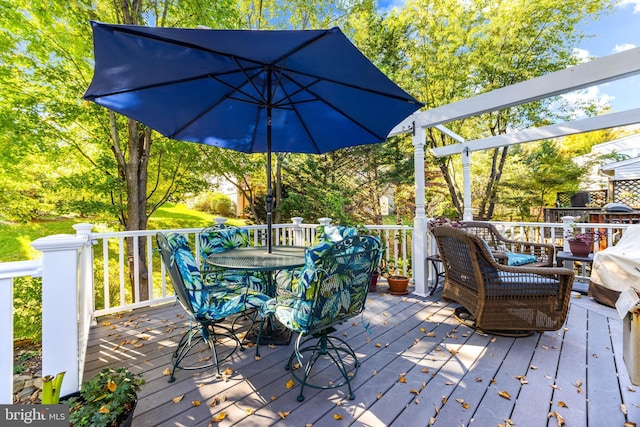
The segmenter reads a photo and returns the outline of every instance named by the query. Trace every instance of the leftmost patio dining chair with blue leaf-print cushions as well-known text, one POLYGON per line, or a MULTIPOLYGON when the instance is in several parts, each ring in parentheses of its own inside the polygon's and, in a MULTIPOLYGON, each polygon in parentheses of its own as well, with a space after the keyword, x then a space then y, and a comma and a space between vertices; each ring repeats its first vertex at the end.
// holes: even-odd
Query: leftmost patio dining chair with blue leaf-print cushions
POLYGON ((172 369, 169 382, 175 380, 177 369, 204 369, 215 366, 220 376, 220 364, 231 357, 240 348, 242 342, 236 336, 235 321, 253 312, 252 319, 258 315, 258 308, 268 299, 265 294, 249 287, 226 286, 217 282, 214 286, 205 286, 196 260, 188 246, 187 240, 178 233, 157 233, 156 241, 162 261, 169 272, 178 302, 189 314, 192 326, 184 333, 172 356, 172 369), (218 354, 217 344, 226 338, 232 342, 224 356, 218 354), (187 356, 196 353, 194 350, 201 343, 208 345, 211 358, 196 356, 193 364, 183 363, 187 356), (193 350, 193 351, 192 351, 193 350))

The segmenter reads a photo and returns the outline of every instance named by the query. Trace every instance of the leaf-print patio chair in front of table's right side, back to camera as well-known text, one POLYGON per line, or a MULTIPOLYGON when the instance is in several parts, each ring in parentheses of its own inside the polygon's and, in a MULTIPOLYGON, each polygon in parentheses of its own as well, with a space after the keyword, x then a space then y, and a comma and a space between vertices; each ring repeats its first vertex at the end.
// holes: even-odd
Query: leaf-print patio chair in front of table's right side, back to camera
MULTIPOLYGON (((330 389, 347 385, 348 398, 355 398, 351 381, 360 362, 351 346, 332 334, 336 331, 334 326, 364 310, 379 253, 380 241, 373 236, 356 235, 335 243, 320 243, 306 250, 306 264, 293 283, 292 294, 271 299, 262 306, 262 319, 275 316, 298 333, 286 369, 301 383, 299 402, 304 400, 305 386, 330 389), (302 373, 298 373, 296 362, 302 366, 302 373)), ((260 335, 256 343, 258 356, 259 346, 260 335)))

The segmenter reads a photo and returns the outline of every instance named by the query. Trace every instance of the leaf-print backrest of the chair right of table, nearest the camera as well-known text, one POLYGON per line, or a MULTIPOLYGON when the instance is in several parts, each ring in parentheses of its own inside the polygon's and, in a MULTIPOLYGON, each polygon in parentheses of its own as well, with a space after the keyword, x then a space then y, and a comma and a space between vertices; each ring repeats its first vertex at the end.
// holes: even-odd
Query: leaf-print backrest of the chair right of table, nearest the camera
POLYGON ((306 251, 297 291, 311 303, 306 333, 320 331, 364 309, 380 253, 374 236, 349 236, 306 251))

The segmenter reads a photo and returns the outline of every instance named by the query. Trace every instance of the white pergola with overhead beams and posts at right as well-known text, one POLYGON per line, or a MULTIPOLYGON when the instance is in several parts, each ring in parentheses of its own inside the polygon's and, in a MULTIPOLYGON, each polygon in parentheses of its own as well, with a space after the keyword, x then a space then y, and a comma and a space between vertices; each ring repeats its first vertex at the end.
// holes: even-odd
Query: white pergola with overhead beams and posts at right
MULTIPOLYGON (((436 157, 462 154, 463 218, 470 220, 472 219, 470 164, 473 151, 637 124, 640 123, 640 108, 540 128, 530 128, 474 141, 465 141, 464 138, 444 127, 445 123, 550 98, 637 74, 640 74, 640 47, 598 58, 432 110, 418 112, 407 117, 393 128, 389 136, 413 132, 416 214, 413 232, 413 254, 415 259, 412 267, 415 293, 425 296, 427 294, 428 281, 426 262, 415 262, 415 260, 425 259, 427 256, 427 218, 424 203, 425 129, 435 127, 458 141, 456 144, 439 147, 432 151, 436 157)), ((640 98, 640 93, 638 97, 640 98)))

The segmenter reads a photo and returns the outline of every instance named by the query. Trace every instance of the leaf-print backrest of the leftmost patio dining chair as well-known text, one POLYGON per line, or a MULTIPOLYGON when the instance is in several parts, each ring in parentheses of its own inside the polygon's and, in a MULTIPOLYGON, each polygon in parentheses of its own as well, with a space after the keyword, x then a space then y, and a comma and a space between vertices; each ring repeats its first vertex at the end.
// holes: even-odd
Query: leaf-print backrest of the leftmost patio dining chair
POLYGON ((191 314, 197 313, 203 304, 204 284, 187 240, 178 233, 157 233, 156 241, 178 301, 191 314))

